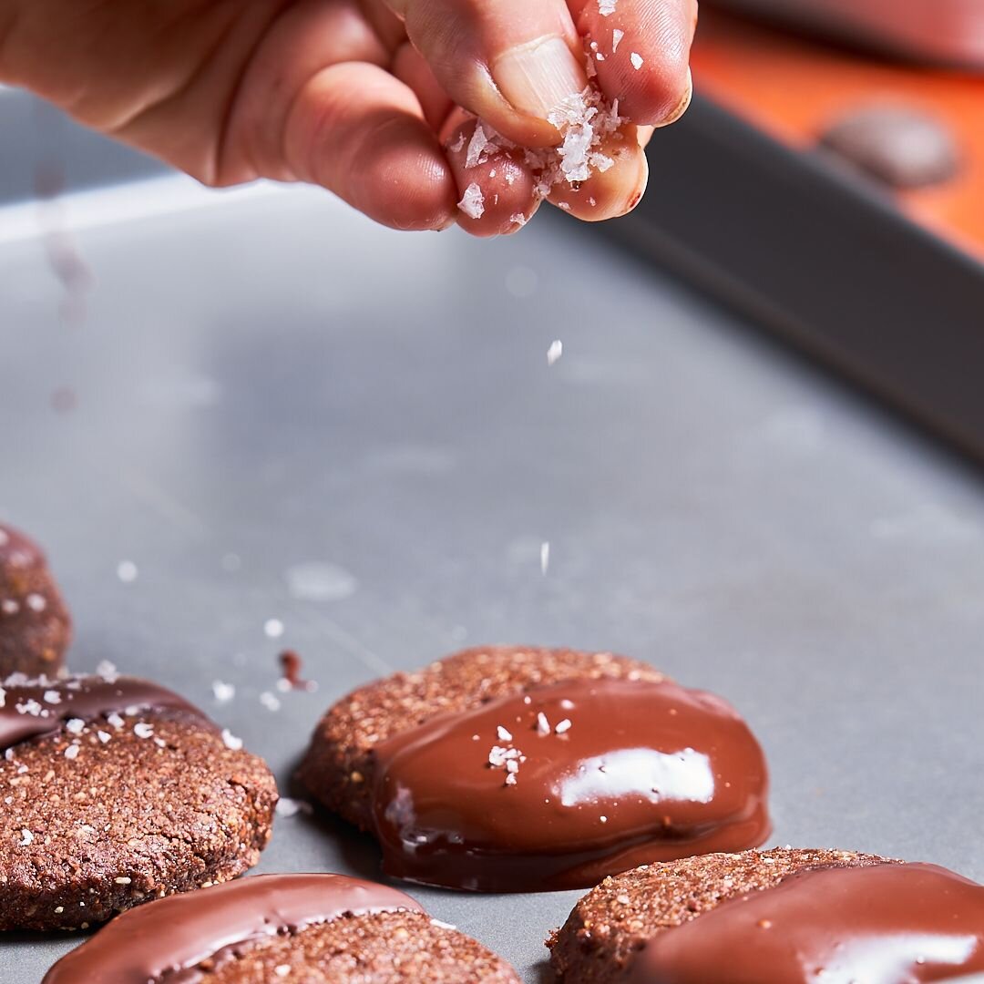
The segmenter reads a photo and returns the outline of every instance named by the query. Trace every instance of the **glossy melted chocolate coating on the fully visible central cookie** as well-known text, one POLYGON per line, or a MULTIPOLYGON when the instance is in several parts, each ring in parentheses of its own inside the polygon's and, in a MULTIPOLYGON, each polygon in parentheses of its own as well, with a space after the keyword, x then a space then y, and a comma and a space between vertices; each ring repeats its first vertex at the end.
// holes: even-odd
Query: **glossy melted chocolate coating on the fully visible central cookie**
POLYGON ((762 749, 672 683, 581 680, 446 714, 376 750, 390 875, 478 892, 584 888, 769 834, 762 749))

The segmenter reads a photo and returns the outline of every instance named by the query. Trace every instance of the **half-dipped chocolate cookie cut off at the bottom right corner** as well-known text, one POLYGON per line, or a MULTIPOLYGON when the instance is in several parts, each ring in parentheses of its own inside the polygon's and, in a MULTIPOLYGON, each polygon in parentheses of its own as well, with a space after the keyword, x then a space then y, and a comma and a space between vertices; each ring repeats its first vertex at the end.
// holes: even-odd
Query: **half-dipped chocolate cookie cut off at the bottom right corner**
POLYGON ((984 888, 852 851, 711 854, 605 879, 547 946, 577 984, 918 984, 984 971, 984 888))

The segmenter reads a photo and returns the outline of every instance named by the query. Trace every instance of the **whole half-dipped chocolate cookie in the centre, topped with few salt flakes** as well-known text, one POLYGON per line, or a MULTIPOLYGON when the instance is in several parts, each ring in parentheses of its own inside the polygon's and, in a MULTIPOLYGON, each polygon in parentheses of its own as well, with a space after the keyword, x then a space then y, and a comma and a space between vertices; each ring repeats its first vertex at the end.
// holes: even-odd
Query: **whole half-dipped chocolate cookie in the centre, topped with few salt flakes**
POLYGON ((737 712, 607 652, 469 649, 355 691, 298 777, 395 877, 584 888, 646 861, 762 843, 762 749, 737 712))

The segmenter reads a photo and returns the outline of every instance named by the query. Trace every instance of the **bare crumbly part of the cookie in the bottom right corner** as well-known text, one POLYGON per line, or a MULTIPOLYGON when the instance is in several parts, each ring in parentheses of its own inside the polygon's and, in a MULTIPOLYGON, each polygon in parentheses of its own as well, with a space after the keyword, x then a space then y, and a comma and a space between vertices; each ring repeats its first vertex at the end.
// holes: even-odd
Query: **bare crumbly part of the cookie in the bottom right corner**
POLYGON ((770 889, 798 871, 893 863, 874 854, 773 848, 707 854, 646 865, 584 895, 547 942, 561 981, 614 984, 646 940, 671 930, 735 895, 770 889))

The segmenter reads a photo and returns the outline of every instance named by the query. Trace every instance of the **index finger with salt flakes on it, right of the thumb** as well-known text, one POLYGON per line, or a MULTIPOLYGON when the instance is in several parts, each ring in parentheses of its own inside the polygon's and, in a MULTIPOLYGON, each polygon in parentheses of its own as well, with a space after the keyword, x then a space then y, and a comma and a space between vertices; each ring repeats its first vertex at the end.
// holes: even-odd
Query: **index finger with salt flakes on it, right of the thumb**
POLYGON ((593 42, 597 81, 636 123, 666 126, 690 104, 697 0, 568 0, 593 42))

